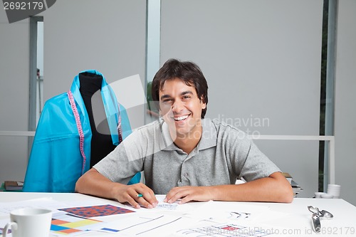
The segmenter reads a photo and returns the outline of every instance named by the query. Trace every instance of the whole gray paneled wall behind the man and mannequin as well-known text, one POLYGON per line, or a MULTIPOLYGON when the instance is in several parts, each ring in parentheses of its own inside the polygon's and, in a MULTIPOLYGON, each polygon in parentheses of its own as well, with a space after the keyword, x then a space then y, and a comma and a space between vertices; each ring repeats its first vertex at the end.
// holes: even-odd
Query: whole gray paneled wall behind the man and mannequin
MULTIPOLYGON (((323 1, 162 1, 161 65, 193 60, 209 82, 207 117, 249 134, 318 135, 323 1), (246 123, 244 125, 244 123, 246 123)), ((339 3, 335 105, 336 183, 356 204, 355 1, 339 3), (352 103, 353 102, 353 103, 352 103)), ((61 0, 43 12, 44 98, 66 92, 81 70, 109 83, 145 80, 146 1, 61 0)), ((28 19, 0 9, 0 131, 28 130, 28 19), (9 100, 16 95, 17 100, 9 100)), ((144 107, 129 109, 132 127, 144 107)), ((0 136, 0 181, 23 179, 26 137, 0 136)), ((318 142, 256 141, 313 196, 318 142)))

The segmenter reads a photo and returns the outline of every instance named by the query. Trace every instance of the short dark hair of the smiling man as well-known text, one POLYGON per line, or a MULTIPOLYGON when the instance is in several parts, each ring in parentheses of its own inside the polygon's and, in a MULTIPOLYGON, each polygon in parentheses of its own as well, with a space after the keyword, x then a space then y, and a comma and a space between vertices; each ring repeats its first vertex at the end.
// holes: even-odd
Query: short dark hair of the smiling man
MULTIPOLYGON (((194 86, 199 100, 208 104, 208 83, 199 66, 189 61, 180 61, 174 58, 167 60, 152 80, 152 100, 159 102, 159 90, 162 90, 164 82, 179 78, 189 86, 194 86)), ((157 106, 159 108, 159 106, 157 106)), ((201 110, 201 118, 206 114, 206 107, 201 110)))

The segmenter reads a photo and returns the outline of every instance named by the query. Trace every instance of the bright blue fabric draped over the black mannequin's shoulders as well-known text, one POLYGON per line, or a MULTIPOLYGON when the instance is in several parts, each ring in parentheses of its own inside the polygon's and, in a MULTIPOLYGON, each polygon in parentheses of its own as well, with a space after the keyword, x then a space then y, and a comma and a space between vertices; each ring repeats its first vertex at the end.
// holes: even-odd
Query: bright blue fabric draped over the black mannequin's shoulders
MULTIPOLYGON (((83 72, 102 75, 96 70, 83 72)), ((81 73, 83 73, 81 72, 81 73)), ((103 75, 102 75, 103 76, 103 75)), ((90 142, 92 133, 88 112, 80 95, 78 75, 75 76, 70 91, 80 116, 84 133, 84 153, 86 157, 84 172, 90 168, 90 142)), ((103 76, 101 95, 108 119, 112 144, 119 144, 117 122, 121 116, 122 139, 131 133, 130 121, 125 108, 120 105, 120 112, 115 94, 103 76)), ((79 134, 75 117, 70 107, 67 93, 56 95, 46 101, 38 121, 33 139, 23 191, 36 192, 73 192, 75 182, 82 175, 83 157, 79 149, 79 134)), ((137 173, 129 184, 140 182, 137 173)))

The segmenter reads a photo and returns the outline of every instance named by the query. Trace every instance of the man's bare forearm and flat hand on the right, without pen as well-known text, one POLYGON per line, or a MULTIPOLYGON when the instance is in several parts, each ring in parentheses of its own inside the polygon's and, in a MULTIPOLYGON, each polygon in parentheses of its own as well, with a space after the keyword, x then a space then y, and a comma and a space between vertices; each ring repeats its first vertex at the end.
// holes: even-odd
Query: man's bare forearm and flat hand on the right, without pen
POLYGON ((181 204, 209 200, 290 203, 293 201, 293 189, 281 172, 275 172, 269 177, 248 181, 245 184, 175 187, 169 191, 164 201, 173 203, 177 199, 182 199, 181 204))

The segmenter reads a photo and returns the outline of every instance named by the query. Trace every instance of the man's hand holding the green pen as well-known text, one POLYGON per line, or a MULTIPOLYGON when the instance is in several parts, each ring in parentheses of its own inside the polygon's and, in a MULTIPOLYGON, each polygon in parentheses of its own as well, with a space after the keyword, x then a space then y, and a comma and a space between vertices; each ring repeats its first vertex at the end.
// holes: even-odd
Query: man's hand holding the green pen
POLYGON ((131 206, 135 207, 135 209, 139 209, 140 206, 152 209, 158 204, 154 192, 145 184, 121 185, 115 189, 117 201, 121 203, 128 202, 131 206))

